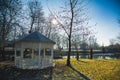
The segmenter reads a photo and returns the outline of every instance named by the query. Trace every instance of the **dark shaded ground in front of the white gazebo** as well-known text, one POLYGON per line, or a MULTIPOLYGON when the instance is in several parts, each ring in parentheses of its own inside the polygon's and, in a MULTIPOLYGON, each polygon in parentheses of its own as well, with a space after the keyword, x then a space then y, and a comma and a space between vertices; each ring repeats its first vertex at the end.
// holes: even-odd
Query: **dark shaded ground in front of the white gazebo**
POLYGON ((0 80, 52 80, 53 67, 46 69, 18 69, 0 64, 0 80))

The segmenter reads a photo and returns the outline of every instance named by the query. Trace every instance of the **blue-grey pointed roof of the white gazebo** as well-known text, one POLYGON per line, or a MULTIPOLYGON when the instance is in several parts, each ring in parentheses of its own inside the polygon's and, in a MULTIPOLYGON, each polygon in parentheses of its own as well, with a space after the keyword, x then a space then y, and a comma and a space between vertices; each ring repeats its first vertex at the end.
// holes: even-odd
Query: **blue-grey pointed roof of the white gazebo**
POLYGON ((41 33, 35 31, 33 33, 30 33, 24 37, 21 37, 17 40, 17 42, 49 42, 49 43, 54 43, 51 39, 45 37, 41 33))

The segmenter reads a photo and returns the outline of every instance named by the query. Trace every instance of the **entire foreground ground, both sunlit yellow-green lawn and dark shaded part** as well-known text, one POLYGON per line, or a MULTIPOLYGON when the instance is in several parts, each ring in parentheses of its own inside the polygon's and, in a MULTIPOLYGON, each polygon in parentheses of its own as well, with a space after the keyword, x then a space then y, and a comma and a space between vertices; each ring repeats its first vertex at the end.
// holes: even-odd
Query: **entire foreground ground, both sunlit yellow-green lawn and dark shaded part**
POLYGON ((0 62, 0 80, 120 80, 120 60, 66 59, 54 60, 54 68, 22 70, 13 62, 0 62), (52 71, 53 69, 53 71, 52 71), (53 72, 53 76, 52 73, 53 72))

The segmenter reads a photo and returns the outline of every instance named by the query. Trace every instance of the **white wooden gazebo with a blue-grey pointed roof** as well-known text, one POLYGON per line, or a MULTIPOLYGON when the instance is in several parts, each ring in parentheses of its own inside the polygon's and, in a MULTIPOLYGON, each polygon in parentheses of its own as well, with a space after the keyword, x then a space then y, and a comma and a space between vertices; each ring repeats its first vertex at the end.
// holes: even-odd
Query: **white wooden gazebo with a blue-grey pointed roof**
POLYGON ((53 66, 55 42, 33 32, 15 43, 15 66, 21 69, 43 69, 53 66))

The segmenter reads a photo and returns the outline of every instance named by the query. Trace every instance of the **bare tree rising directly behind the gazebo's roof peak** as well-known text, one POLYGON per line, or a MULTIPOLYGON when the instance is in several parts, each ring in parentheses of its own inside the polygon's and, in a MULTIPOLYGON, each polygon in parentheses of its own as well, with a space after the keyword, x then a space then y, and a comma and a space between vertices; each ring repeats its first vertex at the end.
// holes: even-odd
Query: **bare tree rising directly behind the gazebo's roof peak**
POLYGON ((44 22, 44 13, 42 11, 41 3, 38 0, 32 0, 28 2, 29 8, 29 17, 30 17, 30 30, 29 33, 32 31, 40 31, 43 33, 43 25, 44 22))

